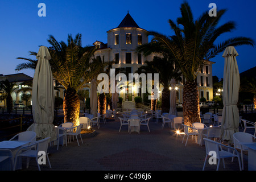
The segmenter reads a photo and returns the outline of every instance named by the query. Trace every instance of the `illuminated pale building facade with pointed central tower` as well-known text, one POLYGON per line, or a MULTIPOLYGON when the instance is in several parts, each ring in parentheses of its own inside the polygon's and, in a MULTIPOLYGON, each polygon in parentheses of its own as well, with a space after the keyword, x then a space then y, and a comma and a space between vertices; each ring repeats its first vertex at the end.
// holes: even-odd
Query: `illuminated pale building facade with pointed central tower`
MULTIPOLYGON (((153 55, 144 57, 141 53, 137 53, 135 50, 137 46, 148 43, 147 30, 139 27, 129 13, 123 18, 118 27, 113 28, 108 33, 108 43, 102 43, 96 41, 93 43, 98 50, 95 52, 95 56, 100 56, 102 61, 115 61, 116 64, 113 68, 125 68, 127 73, 135 73, 145 60, 151 61, 153 55)), ((205 97, 207 101, 211 101, 213 98, 213 85, 212 85, 212 64, 208 61, 208 64, 199 71, 199 75, 196 78, 196 82, 199 88, 199 97, 205 97)), ((177 84, 177 101, 182 102, 182 92, 185 79, 177 84)), ((132 89, 128 87, 125 90, 121 90, 119 94, 123 98, 123 101, 134 101, 134 97, 142 97, 141 85, 134 85, 139 88, 139 93, 134 93, 132 89)), ((160 85, 160 96, 163 87, 160 85)))

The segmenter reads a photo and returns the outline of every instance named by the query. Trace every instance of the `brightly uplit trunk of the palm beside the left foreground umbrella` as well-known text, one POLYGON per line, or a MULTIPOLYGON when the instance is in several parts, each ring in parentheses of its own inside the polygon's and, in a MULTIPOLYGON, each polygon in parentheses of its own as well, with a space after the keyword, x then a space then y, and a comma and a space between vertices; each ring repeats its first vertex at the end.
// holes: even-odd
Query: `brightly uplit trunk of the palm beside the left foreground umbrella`
POLYGON ((78 126, 79 123, 79 113, 80 113, 80 100, 79 95, 73 88, 68 88, 65 93, 63 101, 63 113, 64 122, 72 122, 73 126, 78 126))

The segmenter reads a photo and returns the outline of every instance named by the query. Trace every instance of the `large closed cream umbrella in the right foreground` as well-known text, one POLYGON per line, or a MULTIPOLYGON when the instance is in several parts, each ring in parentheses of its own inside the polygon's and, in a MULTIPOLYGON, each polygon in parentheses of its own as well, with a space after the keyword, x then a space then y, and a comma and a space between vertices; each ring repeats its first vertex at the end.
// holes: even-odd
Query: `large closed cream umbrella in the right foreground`
POLYGON ((223 77, 223 111, 221 122, 221 139, 232 143, 233 134, 238 132, 239 114, 237 108, 240 75, 236 56, 238 53, 233 46, 227 47, 222 55, 225 57, 223 77))

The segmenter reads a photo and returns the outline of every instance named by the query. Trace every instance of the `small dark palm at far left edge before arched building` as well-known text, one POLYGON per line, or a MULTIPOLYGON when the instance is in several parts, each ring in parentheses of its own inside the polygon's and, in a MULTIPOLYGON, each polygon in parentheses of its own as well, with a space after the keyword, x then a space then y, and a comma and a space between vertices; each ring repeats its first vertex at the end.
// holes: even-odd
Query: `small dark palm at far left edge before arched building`
POLYGON ((7 79, 0 82, 0 90, 6 96, 6 109, 8 113, 11 113, 13 110, 13 97, 11 97, 11 93, 13 93, 15 85, 15 82, 10 82, 7 79))

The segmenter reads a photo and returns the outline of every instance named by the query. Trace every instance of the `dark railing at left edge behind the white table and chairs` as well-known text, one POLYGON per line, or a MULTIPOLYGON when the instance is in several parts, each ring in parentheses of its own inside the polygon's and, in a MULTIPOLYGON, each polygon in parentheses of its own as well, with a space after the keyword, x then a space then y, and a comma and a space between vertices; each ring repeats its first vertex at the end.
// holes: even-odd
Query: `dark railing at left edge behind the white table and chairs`
POLYGON ((14 135, 22 132, 23 131, 23 129, 22 129, 22 125, 23 125, 22 118, 24 118, 24 117, 22 115, 20 115, 20 117, 18 117, 18 118, 0 120, 1 125, 5 125, 5 122, 8 122, 8 121, 10 122, 10 121, 14 121, 14 120, 17 120, 17 119, 20 120, 18 125, 13 125, 13 126, 9 126, 9 127, 1 127, 0 128, 0 133, 3 133, 3 134, 5 133, 6 130, 14 129, 16 127, 19 127, 19 132, 16 132, 16 133, 11 133, 10 132, 11 134, 7 134, 7 135, 4 134, 3 136, 0 135, 0 140, 2 138, 9 138, 11 136, 14 136, 14 135))

